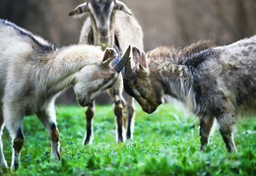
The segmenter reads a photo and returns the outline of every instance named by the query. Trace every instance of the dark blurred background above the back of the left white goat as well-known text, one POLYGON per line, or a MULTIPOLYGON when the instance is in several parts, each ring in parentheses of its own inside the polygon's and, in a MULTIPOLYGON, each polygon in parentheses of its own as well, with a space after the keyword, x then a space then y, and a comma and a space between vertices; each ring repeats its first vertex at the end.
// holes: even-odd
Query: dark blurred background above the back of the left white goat
POLYGON ((0 0, 0 18, 60 45, 78 42, 83 20, 68 17, 79 0, 0 0))

